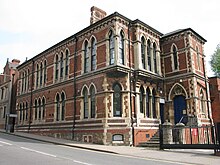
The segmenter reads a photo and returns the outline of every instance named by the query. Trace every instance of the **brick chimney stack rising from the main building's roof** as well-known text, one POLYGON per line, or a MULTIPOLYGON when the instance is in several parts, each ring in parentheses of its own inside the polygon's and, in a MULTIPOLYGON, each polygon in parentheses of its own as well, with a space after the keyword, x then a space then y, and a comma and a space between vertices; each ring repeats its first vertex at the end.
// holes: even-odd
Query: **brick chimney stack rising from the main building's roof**
POLYGON ((91 7, 91 17, 90 17, 90 25, 103 19, 107 13, 98 7, 91 7))

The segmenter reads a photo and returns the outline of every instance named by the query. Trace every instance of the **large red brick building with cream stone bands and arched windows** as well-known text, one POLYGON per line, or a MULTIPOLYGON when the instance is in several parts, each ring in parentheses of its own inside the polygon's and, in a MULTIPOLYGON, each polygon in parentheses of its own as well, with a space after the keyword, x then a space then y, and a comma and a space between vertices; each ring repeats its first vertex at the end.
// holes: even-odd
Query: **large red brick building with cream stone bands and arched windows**
POLYGON ((210 124, 203 37, 96 7, 90 21, 18 67, 17 131, 137 145, 164 120, 210 124))

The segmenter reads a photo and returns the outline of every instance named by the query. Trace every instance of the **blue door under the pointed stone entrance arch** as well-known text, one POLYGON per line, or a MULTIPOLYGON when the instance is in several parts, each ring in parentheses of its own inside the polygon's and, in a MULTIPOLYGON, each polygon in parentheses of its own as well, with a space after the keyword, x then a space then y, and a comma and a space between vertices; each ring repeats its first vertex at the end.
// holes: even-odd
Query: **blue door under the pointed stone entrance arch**
MULTIPOLYGON (((184 123, 183 110, 186 109, 186 99, 184 96, 175 96, 174 97, 174 120, 175 124, 179 123, 180 120, 184 123)), ((186 124, 186 123, 185 123, 186 124)))

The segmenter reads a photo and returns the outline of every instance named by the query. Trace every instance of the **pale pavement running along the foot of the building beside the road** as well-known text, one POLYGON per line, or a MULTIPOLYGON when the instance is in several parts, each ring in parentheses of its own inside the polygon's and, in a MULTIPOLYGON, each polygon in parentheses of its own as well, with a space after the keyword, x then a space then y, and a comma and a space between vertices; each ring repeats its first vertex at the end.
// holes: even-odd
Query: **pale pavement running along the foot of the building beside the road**
MULTIPOLYGON (((5 130, 0 130, 6 133, 5 130)), ((144 147, 130 146, 107 146, 91 143, 82 143, 72 140, 58 139, 48 136, 40 136, 31 133, 14 132, 7 133, 13 136, 19 136, 34 139, 42 142, 53 143, 56 145, 65 145, 99 151, 111 154, 118 154, 129 157, 137 157, 142 159, 150 159, 156 161, 177 163, 177 164, 198 164, 198 165, 220 165, 220 156, 215 156, 213 150, 192 150, 192 149, 172 149, 172 150, 156 150, 144 147)))

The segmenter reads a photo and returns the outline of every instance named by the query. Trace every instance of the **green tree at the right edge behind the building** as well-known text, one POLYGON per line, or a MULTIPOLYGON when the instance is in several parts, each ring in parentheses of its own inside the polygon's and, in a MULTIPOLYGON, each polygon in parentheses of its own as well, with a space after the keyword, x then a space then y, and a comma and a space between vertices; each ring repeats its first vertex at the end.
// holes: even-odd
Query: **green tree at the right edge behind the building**
POLYGON ((216 76, 220 77, 220 44, 216 47, 215 52, 211 56, 211 69, 216 76))

